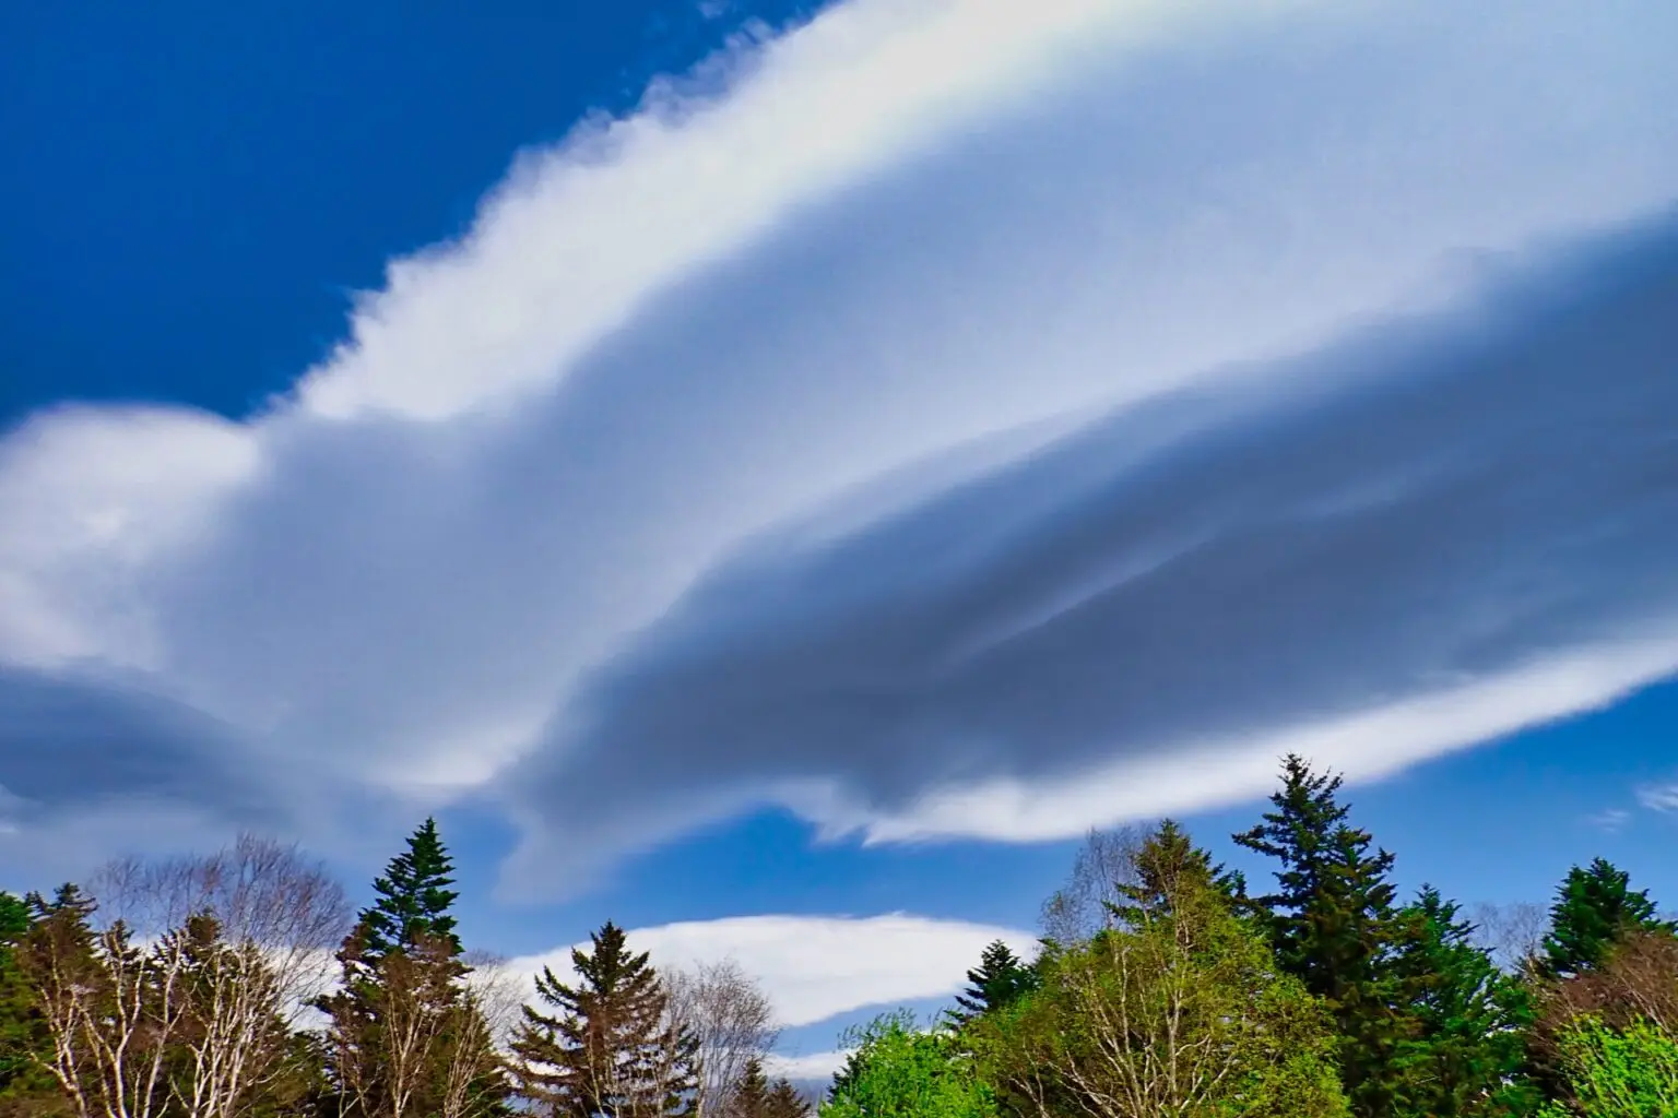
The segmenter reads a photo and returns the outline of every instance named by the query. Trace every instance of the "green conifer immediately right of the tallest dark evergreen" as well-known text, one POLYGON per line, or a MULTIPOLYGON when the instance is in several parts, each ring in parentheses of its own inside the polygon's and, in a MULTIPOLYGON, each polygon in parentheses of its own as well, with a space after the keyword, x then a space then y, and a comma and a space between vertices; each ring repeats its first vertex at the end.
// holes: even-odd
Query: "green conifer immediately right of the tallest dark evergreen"
POLYGON ((1408 935, 1394 962, 1415 1026, 1399 1043, 1403 1118, 1524 1115, 1535 1088, 1522 1076, 1534 1007, 1524 986, 1472 940, 1458 905, 1425 885, 1399 912, 1408 935))

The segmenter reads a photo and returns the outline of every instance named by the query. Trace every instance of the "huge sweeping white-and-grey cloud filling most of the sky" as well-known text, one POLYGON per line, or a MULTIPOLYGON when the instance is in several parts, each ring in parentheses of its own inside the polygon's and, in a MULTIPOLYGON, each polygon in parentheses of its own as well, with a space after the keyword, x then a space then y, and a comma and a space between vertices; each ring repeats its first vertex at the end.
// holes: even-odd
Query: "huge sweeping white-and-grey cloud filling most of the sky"
MULTIPOLYGON (((148 803, 223 821, 247 793, 188 771, 294 818, 487 798, 539 893, 767 801, 1042 838, 1671 670, 1678 15, 1044 12, 738 47, 520 161, 245 422, 32 417, 13 694, 134 727, 148 803), (1462 310, 1500 270, 1556 273, 1462 310), (195 729, 151 748, 164 711, 195 729)), ((0 734, 18 836, 131 791, 0 734)))

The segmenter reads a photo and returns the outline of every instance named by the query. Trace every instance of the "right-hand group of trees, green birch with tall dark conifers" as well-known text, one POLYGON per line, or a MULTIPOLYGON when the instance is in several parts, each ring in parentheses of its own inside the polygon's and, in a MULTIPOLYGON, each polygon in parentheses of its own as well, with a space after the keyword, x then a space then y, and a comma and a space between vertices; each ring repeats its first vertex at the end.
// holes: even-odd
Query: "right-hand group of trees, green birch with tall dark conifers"
POLYGON ((941 1021, 856 1031, 824 1118, 1678 1116, 1678 930, 1646 890, 1596 860, 1487 937, 1401 900, 1339 789, 1285 759, 1233 836, 1265 893, 1171 821, 1092 835, 1037 955, 992 944, 941 1021))

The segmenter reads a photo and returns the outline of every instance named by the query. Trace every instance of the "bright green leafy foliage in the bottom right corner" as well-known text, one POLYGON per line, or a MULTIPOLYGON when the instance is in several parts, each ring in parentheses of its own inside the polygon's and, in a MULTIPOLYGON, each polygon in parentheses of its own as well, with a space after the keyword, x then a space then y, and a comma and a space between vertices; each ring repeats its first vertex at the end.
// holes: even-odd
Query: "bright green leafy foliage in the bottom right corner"
POLYGON ((1571 1098, 1539 1118, 1673 1118, 1678 1115, 1678 1041, 1644 1021, 1608 1029, 1584 1017, 1562 1038, 1571 1098))

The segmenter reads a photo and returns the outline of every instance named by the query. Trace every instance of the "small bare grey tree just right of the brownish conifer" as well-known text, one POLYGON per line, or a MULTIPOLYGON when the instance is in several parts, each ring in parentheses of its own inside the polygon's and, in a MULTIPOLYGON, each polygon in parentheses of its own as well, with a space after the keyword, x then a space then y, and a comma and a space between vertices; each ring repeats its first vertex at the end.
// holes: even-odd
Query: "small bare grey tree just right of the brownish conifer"
POLYGON ((670 1034, 686 1033, 698 1041, 700 1086, 693 1113, 696 1118, 727 1115, 747 1064, 767 1056, 780 1036, 774 1006, 757 979, 733 959, 659 974, 675 1026, 670 1034))

